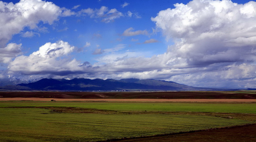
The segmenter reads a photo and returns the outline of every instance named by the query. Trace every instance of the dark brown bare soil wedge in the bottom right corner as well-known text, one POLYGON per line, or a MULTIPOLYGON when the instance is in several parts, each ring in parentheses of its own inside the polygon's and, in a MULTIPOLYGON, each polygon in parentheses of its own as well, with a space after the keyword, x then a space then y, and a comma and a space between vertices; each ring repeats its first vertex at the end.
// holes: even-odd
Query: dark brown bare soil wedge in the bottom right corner
POLYGON ((168 136, 158 136, 149 138, 136 138, 119 140, 118 142, 177 142, 177 141, 239 141, 239 142, 255 142, 256 141, 256 125, 241 126, 235 128, 225 128, 201 132, 192 132, 184 134, 175 134, 168 136))

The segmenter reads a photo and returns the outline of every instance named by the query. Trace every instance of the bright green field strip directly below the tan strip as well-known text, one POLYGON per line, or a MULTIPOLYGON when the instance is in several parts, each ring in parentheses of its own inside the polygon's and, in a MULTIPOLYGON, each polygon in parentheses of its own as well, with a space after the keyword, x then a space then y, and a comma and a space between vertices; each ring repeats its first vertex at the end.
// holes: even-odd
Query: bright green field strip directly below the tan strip
POLYGON ((130 111, 256 113, 256 103, 109 102, 109 101, 0 101, 0 107, 80 107, 130 111))

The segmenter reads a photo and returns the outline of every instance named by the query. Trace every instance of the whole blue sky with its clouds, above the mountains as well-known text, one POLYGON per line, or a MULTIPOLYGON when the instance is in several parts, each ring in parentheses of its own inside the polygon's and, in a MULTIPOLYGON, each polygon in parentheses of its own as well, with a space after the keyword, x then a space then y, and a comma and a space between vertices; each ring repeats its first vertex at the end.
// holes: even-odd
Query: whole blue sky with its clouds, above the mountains
POLYGON ((256 87, 254 1, 0 1, 0 18, 2 80, 256 87))

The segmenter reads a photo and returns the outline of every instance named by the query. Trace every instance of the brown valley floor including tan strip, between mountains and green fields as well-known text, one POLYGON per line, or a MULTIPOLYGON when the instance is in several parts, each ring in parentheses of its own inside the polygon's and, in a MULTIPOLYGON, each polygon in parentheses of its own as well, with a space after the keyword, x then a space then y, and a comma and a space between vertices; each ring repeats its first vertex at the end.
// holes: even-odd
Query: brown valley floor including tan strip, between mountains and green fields
POLYGON ((9 100, 96 100, 96 101, 255 101, 254 91, 180 91, 180 92, 0 92, 0 99, 9 100), (29 99, 30 98, 30 99, 29 99), (186 100, 188 99, 188 100, 186 100), (20 99, 18 99, 20 100, 20 99))

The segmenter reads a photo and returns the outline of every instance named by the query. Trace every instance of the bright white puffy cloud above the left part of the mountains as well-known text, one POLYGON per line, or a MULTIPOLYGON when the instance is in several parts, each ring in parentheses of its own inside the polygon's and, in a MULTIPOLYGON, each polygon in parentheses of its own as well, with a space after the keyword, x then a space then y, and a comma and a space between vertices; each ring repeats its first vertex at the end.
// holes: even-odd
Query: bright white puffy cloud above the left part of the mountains
POLYGON ((66 57, 74 50, 67 42, 46 43, 29 56, 18 56, 9 63, 8 70, 22 74, 44 74, 76 71, 80 64, 66 57))

